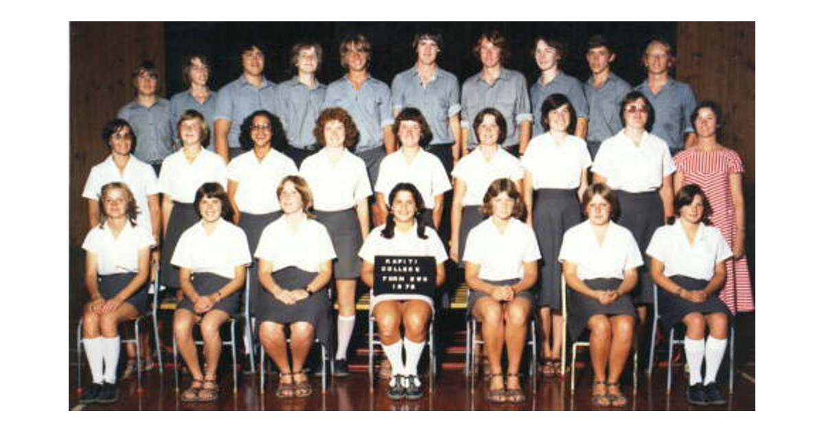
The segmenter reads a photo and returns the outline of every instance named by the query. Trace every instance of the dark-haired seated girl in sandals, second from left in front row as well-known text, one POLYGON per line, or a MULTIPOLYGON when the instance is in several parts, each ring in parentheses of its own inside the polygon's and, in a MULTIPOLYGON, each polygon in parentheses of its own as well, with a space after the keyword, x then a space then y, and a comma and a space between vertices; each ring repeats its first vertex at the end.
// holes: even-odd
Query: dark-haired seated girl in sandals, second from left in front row
POLYGON ((194 203, 200 221, 180 236, 171 257, 171 264, 180 268, 178 278, 184 294, 175 310, 175 340, 192 374, 192 384, 180 394, 180 399, 213 402, 218 398, 220 327, 240 306, 251 257, 246 233, 229 222, 232 205, 220 184, 204 183, 196 192, 194 203), (199 324, 203 336, 205 373, 192 339, 195 324, 199 324))

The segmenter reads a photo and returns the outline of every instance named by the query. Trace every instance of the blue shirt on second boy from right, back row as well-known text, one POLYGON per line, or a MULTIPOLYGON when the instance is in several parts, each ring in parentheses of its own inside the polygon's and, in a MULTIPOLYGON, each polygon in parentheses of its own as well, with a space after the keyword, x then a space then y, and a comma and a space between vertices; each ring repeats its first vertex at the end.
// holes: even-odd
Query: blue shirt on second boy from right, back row
POLYGON ((620 122, 620 102, 632 87, 615 73, 610 73, 601 88, 596 88, 592 82, 590 77, 583 85, 589 104, 587 141, 601 143, 624 128, 620 122))

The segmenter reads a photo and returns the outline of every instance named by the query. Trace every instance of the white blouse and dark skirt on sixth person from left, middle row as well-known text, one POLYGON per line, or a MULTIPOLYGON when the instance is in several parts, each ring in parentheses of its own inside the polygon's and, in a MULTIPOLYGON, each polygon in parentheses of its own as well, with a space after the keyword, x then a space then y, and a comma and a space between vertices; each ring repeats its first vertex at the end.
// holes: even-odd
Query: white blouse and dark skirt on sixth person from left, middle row
POLYGON ((452 177, 461 179, 466 184, 466 192, 461 203, 461 228, 458 239, 458 257, 461 257, 470 230, 486 218, 480 213, 480 208, 484 205, 484 195, 489 185, 502 177, 520 181, 523 179, 523 167, 517 158, 500 146, 489 161, 484 158, 479 147, 458 161, 452 170, 452 177))

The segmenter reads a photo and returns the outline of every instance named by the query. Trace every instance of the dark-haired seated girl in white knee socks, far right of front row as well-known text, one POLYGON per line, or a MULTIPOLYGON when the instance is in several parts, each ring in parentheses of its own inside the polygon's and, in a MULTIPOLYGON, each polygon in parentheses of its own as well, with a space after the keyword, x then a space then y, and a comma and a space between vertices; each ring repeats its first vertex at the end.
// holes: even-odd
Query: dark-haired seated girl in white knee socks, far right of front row
POLYGON ((723 405, 727 400, 715 383, 715 375, 727 349, 729 310, 718 294, 727 276, 724 261, 733 257, 733 252, 718 228, 705 225, 712 210, 699 186, 683 186, 676 195, 675 208, 680 218, 658 228, 647 248, 652 258, 650 272, 658 285, 658 311, 665 329, 679 322, 686 326, 684 351, 690 365, 687 401, 698 406, 723 405))

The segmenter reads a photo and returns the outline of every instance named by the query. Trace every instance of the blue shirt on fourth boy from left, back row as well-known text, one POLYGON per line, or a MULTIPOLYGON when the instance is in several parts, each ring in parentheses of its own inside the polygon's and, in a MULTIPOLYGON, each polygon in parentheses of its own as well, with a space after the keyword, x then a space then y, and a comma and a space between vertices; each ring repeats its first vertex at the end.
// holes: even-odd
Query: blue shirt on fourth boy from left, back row
POLYGON ((295 148, 306 148, 317 141, 312 131, 326 97, 326 85, 316 81, 310 89, 296 77, 278 84, 274 113, 283 123, 286 139, 295 148))

